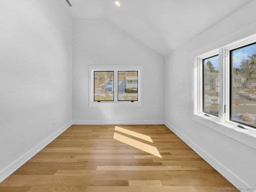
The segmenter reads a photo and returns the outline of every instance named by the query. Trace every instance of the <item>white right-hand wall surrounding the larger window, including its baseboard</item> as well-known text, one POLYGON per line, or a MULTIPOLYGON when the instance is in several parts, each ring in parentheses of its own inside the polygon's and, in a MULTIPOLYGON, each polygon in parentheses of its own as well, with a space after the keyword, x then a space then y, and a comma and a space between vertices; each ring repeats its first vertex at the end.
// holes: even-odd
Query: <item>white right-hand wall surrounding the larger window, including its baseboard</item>
POLYGON ((256 187, 256 150, 192 120, 192 75, 195 56, 256 33, 255 7, 256 1, 251 2, 172 52, 165 61, 166 125, 244 190, 256 187))

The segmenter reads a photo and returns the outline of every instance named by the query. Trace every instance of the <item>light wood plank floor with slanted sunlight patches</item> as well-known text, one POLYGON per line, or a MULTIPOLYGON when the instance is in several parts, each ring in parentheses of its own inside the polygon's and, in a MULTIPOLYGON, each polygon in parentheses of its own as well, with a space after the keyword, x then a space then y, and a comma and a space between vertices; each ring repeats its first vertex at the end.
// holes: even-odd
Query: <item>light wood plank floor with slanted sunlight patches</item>
POLYGON ((0 183, 0 192, 213 192, 214 187, 234 188, 164 125, 73 125, 0 183))

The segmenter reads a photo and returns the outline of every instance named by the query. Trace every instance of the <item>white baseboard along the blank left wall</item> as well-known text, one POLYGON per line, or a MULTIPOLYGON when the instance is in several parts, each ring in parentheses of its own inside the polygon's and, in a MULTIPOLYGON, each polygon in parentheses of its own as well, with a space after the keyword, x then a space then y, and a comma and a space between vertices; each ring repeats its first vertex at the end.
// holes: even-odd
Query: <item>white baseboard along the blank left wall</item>
POLYGON ((24 154, 19 159, 17 159, 15 162, 13 162, 8 167, 6 167, 4 170, 2 170, 0 172, 0 183, 3 180, 5 180, 8 176, 10 176, 14 171, 16 171, 18 168, 20 168, 20 166, 22 166, 24 163, 26 163, 28 160, 30 160, 35 154, 37 154, 40 150, 42 150, 45 146, 47 146, 55 138, 57 138, 60 134, 62 134, 62 132, 64 132, 70 126, 72 126, 72 122, 69 122, 66 125, 64 125, 62 128, 57 130, 54 134, 50 135, 44 141, 39 143, 37 146, 32 148, 26 154, 24 154))

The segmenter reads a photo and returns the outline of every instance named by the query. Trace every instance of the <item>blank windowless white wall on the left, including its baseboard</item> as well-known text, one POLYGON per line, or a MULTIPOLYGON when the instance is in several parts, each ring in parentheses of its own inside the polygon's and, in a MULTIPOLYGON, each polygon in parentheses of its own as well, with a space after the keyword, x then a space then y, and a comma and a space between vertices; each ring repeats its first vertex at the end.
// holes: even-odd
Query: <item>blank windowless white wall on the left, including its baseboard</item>
POLYGON ((72 20, 65 4, 1 1, 0 182, 72 124, 72 20))

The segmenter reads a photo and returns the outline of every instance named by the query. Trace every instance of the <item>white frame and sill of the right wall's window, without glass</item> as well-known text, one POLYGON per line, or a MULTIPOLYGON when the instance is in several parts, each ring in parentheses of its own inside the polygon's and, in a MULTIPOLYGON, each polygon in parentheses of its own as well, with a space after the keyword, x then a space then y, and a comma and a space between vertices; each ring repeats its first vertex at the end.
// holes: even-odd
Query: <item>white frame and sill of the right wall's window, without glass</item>
POLYGON ((194 58, 193 112, 192 119, 228 137, 256 149, 256 129, 230 121, 230 50, 256 42, 256 34, 212 50, 194 58), (219 56, 219 113, 218 117, 202 112, 203 110, 203 59, 219 56), (226 111, 225 111, 226 110, 226 111), (206 115, 205 115, 206 114, 206 115), (239 128, 242 125, 244 128, 239 128))

